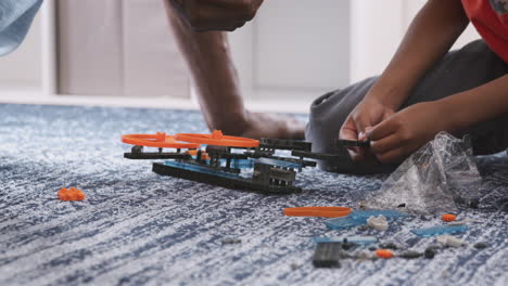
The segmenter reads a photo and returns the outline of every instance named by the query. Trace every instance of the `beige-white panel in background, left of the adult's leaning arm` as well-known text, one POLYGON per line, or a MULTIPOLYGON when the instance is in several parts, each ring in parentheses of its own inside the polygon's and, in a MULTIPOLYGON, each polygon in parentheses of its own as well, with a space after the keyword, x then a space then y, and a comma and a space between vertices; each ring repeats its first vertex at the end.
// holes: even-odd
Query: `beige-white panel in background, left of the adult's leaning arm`
POLYGON ((59 0, 60 92, 188 98, 161 0, 59 0))

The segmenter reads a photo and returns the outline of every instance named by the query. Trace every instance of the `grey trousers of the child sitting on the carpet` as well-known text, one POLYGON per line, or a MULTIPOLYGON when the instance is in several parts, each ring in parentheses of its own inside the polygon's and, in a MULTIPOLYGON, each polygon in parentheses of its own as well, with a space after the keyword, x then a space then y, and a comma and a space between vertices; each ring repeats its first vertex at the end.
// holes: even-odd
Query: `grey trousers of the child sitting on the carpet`
MULTIPOLYGON (((402 108, 420 102, 436 101, 470 90, 503 77, 508 64, 498 57, 482 40, 447 53, 412 90, 402 108)), ((364 99, 378 78, 368 78, 342 90, 329 92, 314 101, 307 125, 306 139, 313 152, 333 152, 339 130, 353 108, 364 99)), ((508 96, 508 94, 507 94, 508 96)), ((480 122, 457 134, 469 134, 477 155, 493 154, 508 147, 508 115, 480 122)), ((339 172, 369 173, 391 170, 392 167, 369 168, 347 161, 342 166, 320 162, 321 169, 339 172)))

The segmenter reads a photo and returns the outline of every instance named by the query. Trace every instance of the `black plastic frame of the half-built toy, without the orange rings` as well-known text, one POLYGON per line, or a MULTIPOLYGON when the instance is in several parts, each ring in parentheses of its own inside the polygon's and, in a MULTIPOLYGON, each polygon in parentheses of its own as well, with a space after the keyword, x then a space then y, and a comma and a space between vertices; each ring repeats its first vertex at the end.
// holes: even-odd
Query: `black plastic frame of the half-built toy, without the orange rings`
POLYGON ((143 147, 134 146, 130 153, 125 153, 128 159, 174 159, 172 164, 154 162, 152 170, 162 176, 170 176, 190 181, 218 185, 228 188, 254 191, 264 194, 290 194, 301 192, 302 188, 294 185, 296 171, 302 171, 305 167, 316 167, 315 160, 325 161, 327 171, 368 173, 384 171, 386 166, 380 168, 376 166, 364 166, 354 164, 345 145, 368 146, 368 142, 336 141, 334 153, 314 153, 312 143, 293 140, 262 139, 256 148, 244 150, 241 153, 231 153, 231 147, 213 146, 206 147, 209 160, 202 159, 202 151, 196 151, 195 158, 180 150, 173 153, 145 153, 143 147), (276 151, 291 151, 293 157, 276 156, 276 151), (237 176, 240 169, 231 167, 231 160, 255 159, 252 178, 237 176), (315 160, 305 160, 310 158, 315 160), (226 166, 221 166, 221 160, 226 160, 226 166), (378 169, 377 169, 378 168, 378 169))

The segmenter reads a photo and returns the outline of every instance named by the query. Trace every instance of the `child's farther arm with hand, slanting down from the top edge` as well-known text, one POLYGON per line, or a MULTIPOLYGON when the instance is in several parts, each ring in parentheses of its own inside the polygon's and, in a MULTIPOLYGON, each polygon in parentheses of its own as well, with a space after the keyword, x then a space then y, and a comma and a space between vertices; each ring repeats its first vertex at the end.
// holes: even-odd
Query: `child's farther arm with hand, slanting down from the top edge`
MULTIPOLYGON (((429 0, 377 83, 347 117, 340 138, 364 140, 366 130, 398 110, 420 78, 450 49, 468 23, 460 0, 429 0)), ((363 150, 350 153, 353 159, 365 158, 363 150)))

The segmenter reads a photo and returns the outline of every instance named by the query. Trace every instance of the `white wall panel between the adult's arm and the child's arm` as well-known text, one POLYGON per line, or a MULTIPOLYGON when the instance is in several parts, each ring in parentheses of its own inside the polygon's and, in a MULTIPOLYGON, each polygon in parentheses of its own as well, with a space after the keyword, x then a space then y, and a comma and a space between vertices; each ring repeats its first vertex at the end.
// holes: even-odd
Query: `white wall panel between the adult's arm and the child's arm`
POLYGON ((308 101, 348 82, 350 1, 265 1, 230 34, 246 98, 308 101))

